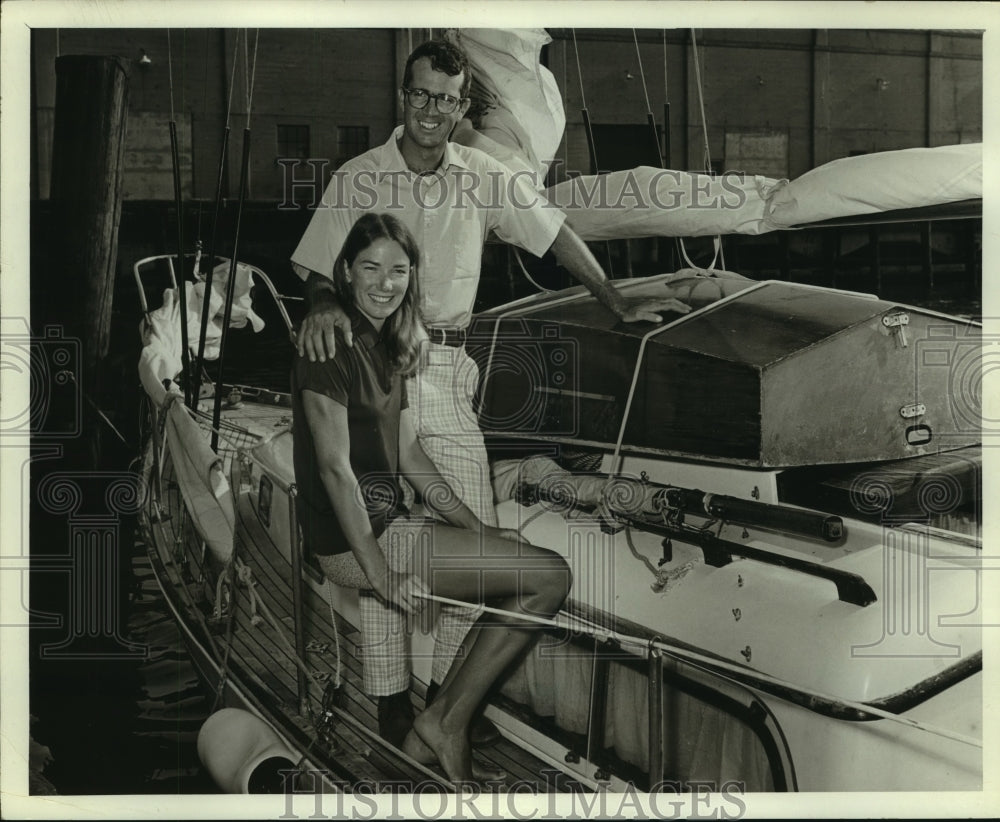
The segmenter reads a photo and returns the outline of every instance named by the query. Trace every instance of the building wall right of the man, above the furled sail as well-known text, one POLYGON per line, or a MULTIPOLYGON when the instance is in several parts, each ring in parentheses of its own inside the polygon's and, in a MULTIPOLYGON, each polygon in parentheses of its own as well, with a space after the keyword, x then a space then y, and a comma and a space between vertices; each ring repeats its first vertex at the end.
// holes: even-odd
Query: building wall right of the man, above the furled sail
POLYGON ((692 43, 689 31, 639 30, 637 53, 628 29, 549 31, 567 115, 559 157, 577 171, 590 169, 584 100, 599 124, 643 123, 651 110, 661 141, 669 102, 671 166, 705 168, 699 74, 716 168, 757 172, 727 163, 727 133, 784 135, 772 144, 787 145, 791 177, 852 153, 982 139, 975 32, 699 29, 692 43))

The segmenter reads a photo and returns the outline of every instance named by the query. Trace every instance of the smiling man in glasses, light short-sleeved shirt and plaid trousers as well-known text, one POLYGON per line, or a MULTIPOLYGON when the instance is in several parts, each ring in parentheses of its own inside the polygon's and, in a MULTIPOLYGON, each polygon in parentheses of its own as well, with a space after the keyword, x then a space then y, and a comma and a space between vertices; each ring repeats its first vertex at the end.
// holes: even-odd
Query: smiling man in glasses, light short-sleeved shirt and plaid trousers
MULTIPOLYGON (((347 345, 353 344, 350 320, 334 296, 332 273, 357 218, 366 211, 385 211, 413 232, 424 256, 420 310, 430 337, 427 365, 408 388, 418 412, 418 435, 459 499, 483 522, 496 525, 486 449, 472 408, 479 372, 464 350, 490 231, 539 257, 551 249, 625 322, 659 322, 660 311, 689 308, 674 299, 630 300, 619 294, 566 226, 565 214, 548 206, 529 180, 477 149, 449 141, 469 108, 471 81, 468 59, 455 45, 429 41, 414 49, 399 91, 403 124, 384 145, 335 173, 292 264, 306 281, 310 304, 299 331, 299 355, 323 362, 333 356, 336 329, 347 345)), ((444 679, 479 613, 478 608, 442 608, 432 689, 444 679)), ((363 596, 361 622, 364 687, 379 697, 380 732, 398 744, 412 720, 402 615, 363 596)), ((491 738, 498 734, 485 720, 473 727, 474 745, 488 744, 491 738)))

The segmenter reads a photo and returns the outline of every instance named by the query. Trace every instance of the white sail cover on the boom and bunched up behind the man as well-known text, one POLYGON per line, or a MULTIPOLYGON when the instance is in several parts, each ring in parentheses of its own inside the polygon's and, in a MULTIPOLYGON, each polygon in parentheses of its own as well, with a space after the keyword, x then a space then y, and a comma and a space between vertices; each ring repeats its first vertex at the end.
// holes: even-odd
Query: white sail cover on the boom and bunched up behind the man
MULTIPOLYGON (((539 61, 543 29, 463 29, 448 37, 469 56, 495 108, 456 142, 485 151, 541 190, 566 115, 539 61)), ((583 175, 545 189, 584 240, 763 234, 809 222, 982 197, 982 145, 884 151, 832 160, 791 182, 640 166, 583 175)))

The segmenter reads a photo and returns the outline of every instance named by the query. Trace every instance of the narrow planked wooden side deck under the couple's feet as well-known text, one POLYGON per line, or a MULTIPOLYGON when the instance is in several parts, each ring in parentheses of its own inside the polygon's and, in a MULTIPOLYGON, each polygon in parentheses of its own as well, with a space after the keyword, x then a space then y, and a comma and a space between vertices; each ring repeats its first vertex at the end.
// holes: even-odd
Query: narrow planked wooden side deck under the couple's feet
MULTIPOLYGON (((244 402, 241 408, 229 409, 223 416, 226 423, 264 434, 287 424, 290 410, 244 402)), ((234 444, 232 439, 222 441, 220 454, 227 462, 236 453, 234 444)), ((425 790, 430 784, 445 791, 453 789, 442 772, 410 760, 378 736, 377 704, 362 688, 358 630, 341 615, 337 615, 334 627, 320 577, 308 565, 303 584, 301 643, 305 648, 302 661, 308 670, 308 688, 306 709, 300 710, 292 569, 271 542, 245 493, 235 495, 235 551, 248 570, 235 586, 232 619, 228 615, 213 616, 213 571, 202 564, 201 540, 182 510, 180 489, 171 478, 169 455, 166 462, 159 521, 155 509, 146 518, 150 559, 174 608, 185 614, 193 641, 206 660, 202 669, 208 670, 206 678, 211 686, 218 688, 219 672, 224 672, 222 677, 230 686, 236 686, 243 700, 259 710, 318 769, 326 771, 327 781, 337 788, 351 790, 358 783, 380 783, 401 792, 425 790), (183 552, 179 546, 183 546, 183 552), (334 688, 335 631, 339 631, 339 688, 334 688)), ((232 701, 232 690, 227 690, 227 702, 232 701)), ((422 693, 413 693, 411 698, 416 709, 423 707, 422 693)), ((504 785, 494 786, 501 790, 515 784, 521 791, 527 785, 538 792, 587 790, 568 777, 553 780, 548 763, 507 739, 477 751, 476 756, 506 771, 504 785)))

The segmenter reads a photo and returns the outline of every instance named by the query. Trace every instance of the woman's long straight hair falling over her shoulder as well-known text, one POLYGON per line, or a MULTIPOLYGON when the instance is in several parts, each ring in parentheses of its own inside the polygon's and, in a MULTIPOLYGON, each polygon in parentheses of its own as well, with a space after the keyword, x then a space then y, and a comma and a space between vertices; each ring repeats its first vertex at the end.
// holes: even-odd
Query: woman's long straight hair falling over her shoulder
POLYGON ((389 360, 396 372, 403 376, 413 374, 421 364, 421 347, 427 332, 420 323, 420 249, 410 230, 391 214, 368 212, 358 218, 344 240, 343 248, 333 264, 333 285, 341 305, 354 304, 354 291, 347 281, 347 269, 354 264, 358 254, 376 240, 393 240, 410 260, 410 281, 399 308, 386 318, 382 337, 389 351, 389 360))

